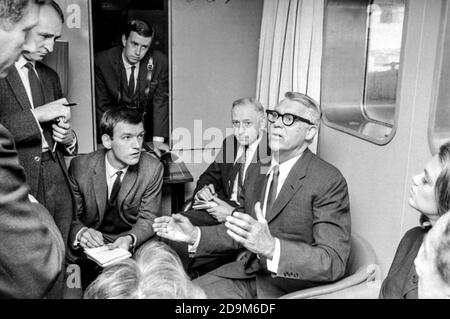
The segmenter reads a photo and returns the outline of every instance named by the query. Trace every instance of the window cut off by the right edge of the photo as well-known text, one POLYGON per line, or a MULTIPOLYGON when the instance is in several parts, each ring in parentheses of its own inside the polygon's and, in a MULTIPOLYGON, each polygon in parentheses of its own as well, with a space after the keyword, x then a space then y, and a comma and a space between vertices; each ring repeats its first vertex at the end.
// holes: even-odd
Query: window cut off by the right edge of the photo
POLYGON ((439 146, 450 138, 450 21, 449 3, 446 3, 444 10, 445 19, 442 26, 441 50, 438 52, 438 70, 436 100, 431 108, 429 137, 431 151, 435 154, 439 146))

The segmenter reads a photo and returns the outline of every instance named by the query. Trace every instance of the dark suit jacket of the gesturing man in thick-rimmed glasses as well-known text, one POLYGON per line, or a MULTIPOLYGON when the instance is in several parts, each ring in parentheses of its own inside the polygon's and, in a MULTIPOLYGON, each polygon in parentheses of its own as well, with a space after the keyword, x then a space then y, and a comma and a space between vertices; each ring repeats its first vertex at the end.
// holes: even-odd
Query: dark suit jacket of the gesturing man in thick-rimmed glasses
MULTIPOLYGON (((245 212, 262 201, 270 164, 252 164, 244 190, 245 212), (256 187, 255 187, 256 185, 256 187)), ((338 169, 309 149, 290 171, 266 219, 272 236, 280 239, 278 273, 267 271, 266 259, 247 251, 244 258, 212 273, 225 278, 256 277, 259 298, 340 279, 350 253, 350 207, 347 183, 338 169)), ((201 227, 197 256, 242 249, 223 225, 201 227)))

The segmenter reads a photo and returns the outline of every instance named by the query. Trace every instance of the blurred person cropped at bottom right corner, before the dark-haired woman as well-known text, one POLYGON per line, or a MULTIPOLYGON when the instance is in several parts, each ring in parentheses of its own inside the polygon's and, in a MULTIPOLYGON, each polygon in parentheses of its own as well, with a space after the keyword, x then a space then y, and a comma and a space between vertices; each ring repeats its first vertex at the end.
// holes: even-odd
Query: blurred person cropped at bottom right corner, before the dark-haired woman
POLYGON ((414 264, 420 299, 450 299, 450 213, 425 235, 414 264))

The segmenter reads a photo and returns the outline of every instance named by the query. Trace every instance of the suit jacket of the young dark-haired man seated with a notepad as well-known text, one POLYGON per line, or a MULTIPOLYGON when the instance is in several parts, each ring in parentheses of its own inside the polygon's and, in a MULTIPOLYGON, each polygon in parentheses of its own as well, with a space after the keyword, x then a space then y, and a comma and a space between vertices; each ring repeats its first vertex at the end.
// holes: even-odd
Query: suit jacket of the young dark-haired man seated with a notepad
MULTIPOLYGON (((106 150, 102 149, 78 156, 70 163, 69 175, 76 202, 70 245, 81 228, 97 229, 103 221, 108 198, 105 154, 106 150)), ((119 215, 129 229, 116 235, 104 235, 107 241, 132 233, 138 246, 154 234, 153 220, 161 214, 162 176, 162 164, 147 153, 141 154, 137 165, 128 168, 120 187, 118 205, 119 215)))

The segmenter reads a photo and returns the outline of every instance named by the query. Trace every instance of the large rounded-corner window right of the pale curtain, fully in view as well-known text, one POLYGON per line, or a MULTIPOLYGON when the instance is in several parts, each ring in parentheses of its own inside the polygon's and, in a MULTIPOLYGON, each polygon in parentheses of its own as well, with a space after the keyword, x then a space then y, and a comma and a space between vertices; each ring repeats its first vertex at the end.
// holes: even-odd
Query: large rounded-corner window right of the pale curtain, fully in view
POLYGON ((404 0, 326 1, 325 124, 380 145, 392 139, 404 17, 404 0))

